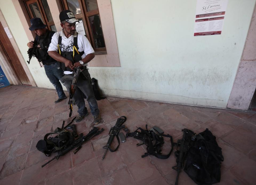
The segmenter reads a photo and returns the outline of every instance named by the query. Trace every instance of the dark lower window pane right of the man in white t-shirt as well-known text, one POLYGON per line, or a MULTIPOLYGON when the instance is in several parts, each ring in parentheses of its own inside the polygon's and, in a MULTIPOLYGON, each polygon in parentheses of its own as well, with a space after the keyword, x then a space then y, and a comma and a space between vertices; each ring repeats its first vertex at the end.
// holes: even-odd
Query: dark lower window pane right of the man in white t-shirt
POLYGON ((99 15, 94 15, 89 17, 91 31, 93 32, 93 39, 96 48, 104 48, 105 42, 103 38, 102 28, 101 28, 101 19, 99 15))

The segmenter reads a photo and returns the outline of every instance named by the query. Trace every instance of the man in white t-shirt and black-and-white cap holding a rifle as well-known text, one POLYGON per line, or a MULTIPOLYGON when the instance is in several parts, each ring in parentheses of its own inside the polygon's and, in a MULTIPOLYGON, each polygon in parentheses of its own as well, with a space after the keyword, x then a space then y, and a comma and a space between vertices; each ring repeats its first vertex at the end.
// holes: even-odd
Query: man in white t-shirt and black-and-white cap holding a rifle
MULTIPOLYGON (((75 18, 73 12, 63 10, 59 14, 59 19, 63 29, 61 32, 53 35, 48 53, 52 58, 60 62, 64 74, 71 74, 73 69, 78 66, 83 70, 83 75, 79 76, 77 88, 73 95, 73 99, 78 106, 77 112, 79 113, 75 122, 81 121, 89 114, 85 107, 85 100, 83 99, 83 94, 85 94, 94 117, 94 123, 98 124, 101 121, 101 117, 91 86, 90 74, 86 68, 86 63, 94 58, 94 50, 88 39, 84 35, 76 32, 75 23, 79 21, 75 18)), ((71 82, 71 80, 63 82, 68 91, 70 91, 71 82)))

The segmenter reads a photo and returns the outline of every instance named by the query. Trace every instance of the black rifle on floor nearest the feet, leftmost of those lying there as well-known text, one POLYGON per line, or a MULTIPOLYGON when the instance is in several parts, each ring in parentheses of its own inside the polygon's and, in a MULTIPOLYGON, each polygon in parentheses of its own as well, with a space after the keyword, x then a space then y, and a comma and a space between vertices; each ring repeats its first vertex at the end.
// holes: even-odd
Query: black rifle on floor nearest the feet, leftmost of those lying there
POLYGON ((97 127, 93 127, 93 129, 86 135, 86 136, 83 136, 83 133, 81 133, 79 135, 79 138, 77 140, 75 140, 73 142, 73 144, 67 146, 66 148, 60 150, 58 152, 58 155, 56 155, 54 158, 52 158, 50 161, 48 161, 47 163, 45 163, 44 165, 42 165, 41 167, 44 167, 45 165, 47 165, 48 163, 50 163, 51 161, 53 161, 54 159, 58 160, 60 156, 68 153, 70 150, 72 150, 73 148, 76 148, 74 150, 74 154, 76 154, 78 152, 78 150, 80 150, 82 148, 82 144, 85 142, 85 141, 88 141, 90 140, 92 137, 94 136, 97 136, 99 135, 104 129, 102 128, 100 131, 98 130, 99 128, 97 127))

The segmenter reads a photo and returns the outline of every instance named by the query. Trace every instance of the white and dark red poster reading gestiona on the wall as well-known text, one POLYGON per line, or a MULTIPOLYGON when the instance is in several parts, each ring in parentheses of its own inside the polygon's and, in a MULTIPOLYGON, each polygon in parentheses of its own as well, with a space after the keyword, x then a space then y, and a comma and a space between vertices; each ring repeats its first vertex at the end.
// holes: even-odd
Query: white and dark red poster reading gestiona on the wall
POLYGON ((228 0, 197 0, 194 36, 220 35, 228 0))

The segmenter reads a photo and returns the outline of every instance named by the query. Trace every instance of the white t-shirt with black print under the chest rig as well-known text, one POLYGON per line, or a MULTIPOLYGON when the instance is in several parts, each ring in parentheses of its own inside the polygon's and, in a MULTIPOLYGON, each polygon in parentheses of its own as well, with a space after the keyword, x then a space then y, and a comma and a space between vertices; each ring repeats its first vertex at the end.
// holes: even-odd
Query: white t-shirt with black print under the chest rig
POLYGON ((69 38, 67 38, 62 31, 54 33, 53 37, 51 38, 51 43, 48 48, 49 51, 57 51, 58 50, 58 39, 59 36, 62 37, 61 41, 61 51, 73 51, 73 43, 74 43, 74 37, 77 37, 77 45, 78 45, 78 52, 84 51, 85 53, 82 55, 82 59, 85 58, 87 54, 94 53, 93 48, 91 47, 90 42, 86 38, 86 36, 82 35, 81 33, 75 32, 74 35, 71 35, 69 38))

